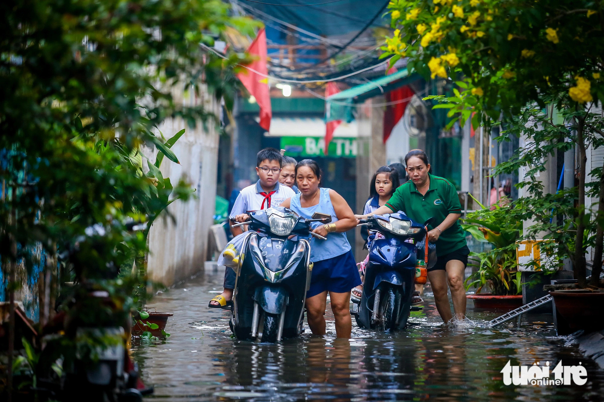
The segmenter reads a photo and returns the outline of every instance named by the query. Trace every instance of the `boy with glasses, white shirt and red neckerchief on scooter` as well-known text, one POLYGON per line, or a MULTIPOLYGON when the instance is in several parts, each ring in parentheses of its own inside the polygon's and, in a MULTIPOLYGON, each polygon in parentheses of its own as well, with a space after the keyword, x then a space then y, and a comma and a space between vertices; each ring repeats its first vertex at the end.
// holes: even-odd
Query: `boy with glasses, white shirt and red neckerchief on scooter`
MULTIPOLYGON (((231 233, 237 236, 243 233, 241 226, 233 228, 235 222, 246 222, 249 219, 247 212, 259 211, 279 206, 293 196, 294 190, 279 183, 281 162, 283 157, 275 148, 265 148, 256 156, 256 174, 259 180, 241 190, 229 217, 231 233)), ((208 307, 229 309, 233 298, 236 273, 231 267, 226 267, 224 290, 221 295, 211 299, 208 307)))

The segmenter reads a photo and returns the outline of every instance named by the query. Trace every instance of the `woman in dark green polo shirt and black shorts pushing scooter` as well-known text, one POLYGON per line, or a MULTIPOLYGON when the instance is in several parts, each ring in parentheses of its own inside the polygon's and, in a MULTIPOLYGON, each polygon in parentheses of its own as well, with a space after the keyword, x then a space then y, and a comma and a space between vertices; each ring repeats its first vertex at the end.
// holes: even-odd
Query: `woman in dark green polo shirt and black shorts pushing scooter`
POLYGON ((428 239, 436 243, 438 257, 434 267, 428 270, 428 279, 434 292, 434 302, 445 323, 452 318, 447 284, 451 289, 455 316, 466 316, 466 291, 463 273, 467 266, 467 248, 464 231, 457 220, 461 216, 461 205, 454 185, 443 177, 429 173, 428 156, 419 149, 405 156, 406 171, 410 179, 396 189, 390 200, 372 214, 355 215, 366 219, 368 215, 390 214, 403 211, 418 223, 432 219, 428 225, 428 239))

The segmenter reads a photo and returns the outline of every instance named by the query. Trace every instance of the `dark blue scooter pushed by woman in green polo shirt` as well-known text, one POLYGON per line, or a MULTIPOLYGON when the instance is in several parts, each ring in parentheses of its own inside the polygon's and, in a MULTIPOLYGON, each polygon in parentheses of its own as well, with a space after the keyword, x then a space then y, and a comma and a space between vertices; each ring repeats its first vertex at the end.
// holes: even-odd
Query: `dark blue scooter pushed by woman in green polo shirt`
MULTIPOLYGON (((428 220, 429 222, 429 220, 428 220)), ((406 327, 413 296, 417 249, 416 240, 426 235, 424 225, 413 222, 399 211, 372 215, 358 226, 367 225, 385 238, 371 241, 361 302, 350 313, 361 328, 400 330, 406 327), (413 239, 413 243, 405 240, 413 239)), ((417 308, 419 309, 419 308, 417 308)))

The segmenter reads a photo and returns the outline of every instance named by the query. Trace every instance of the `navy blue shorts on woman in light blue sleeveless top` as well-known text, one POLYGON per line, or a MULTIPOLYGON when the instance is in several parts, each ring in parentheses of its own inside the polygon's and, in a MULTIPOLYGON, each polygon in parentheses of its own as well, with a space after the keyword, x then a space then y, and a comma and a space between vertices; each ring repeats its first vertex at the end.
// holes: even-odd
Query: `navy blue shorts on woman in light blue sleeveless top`
POLYGON ((314 263, 306 297, 312 298, 326 290, 334 293, 350 292, 361 283, 355 256, 348 250, 344 254, 314 263))

